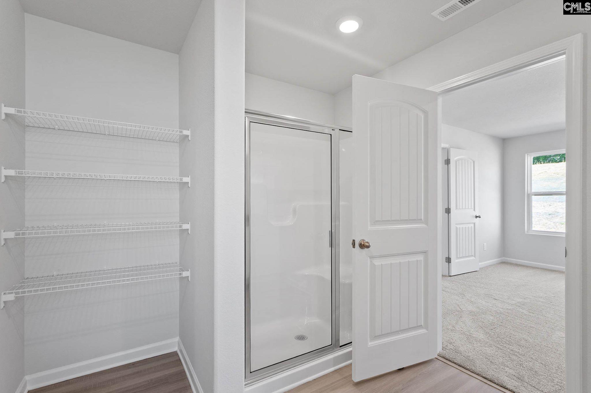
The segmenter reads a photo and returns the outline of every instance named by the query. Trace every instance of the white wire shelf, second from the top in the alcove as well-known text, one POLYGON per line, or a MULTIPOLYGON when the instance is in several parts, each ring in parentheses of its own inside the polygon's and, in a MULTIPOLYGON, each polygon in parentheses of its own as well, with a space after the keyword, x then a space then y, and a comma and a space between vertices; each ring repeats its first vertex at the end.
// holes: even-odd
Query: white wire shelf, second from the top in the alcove
POLYGON ((137 181, 159 181, 163 183, 188 183, 191 187, 191 176, 173 177, 173 176, 142 176, 134 174, 109 174, 109 173, 79 173, 79 172, 56 172, 56 171, 36 171, 24 169, 6 169, 2 167, 2 183, 7 176, 24 177, 51 177, 63 179, 101 179, 101 180, 137 180, 137 181))

